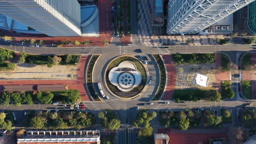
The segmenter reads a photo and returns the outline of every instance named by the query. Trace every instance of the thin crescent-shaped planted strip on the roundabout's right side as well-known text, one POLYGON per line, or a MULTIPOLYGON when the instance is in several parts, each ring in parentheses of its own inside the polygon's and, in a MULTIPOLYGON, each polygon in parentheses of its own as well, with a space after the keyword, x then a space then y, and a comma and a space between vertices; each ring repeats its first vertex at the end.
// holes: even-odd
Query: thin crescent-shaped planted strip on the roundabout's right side
POLYGON ((160 84, 159 84, 158 92, 156 92, 153 100, 159 100, 165 89, 165 81, 166 81, 165 65, 162 62, 162 59, 159 55, 153 55, 153 56, 156 62, 158 62, 158 67, 160 70, 160 84))

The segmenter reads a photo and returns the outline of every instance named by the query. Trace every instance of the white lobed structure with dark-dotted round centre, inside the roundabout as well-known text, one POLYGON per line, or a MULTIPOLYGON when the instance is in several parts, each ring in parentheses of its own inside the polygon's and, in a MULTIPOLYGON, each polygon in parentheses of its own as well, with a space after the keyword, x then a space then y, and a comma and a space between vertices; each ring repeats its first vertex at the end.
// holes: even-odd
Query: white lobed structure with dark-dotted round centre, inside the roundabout
POLYGON ((131 61, 121 62, 109 71, 108 79, 120 91, 129 92, 141 83, 141 73, 131 61))

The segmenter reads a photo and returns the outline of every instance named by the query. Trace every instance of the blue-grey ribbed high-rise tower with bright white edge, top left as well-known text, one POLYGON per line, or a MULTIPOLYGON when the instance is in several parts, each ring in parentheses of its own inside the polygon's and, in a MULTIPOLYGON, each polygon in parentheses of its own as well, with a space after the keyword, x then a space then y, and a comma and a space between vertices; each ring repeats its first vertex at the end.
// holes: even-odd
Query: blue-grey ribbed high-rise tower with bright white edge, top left
POLYGON ((0 14, 49 36, 79 36, 77 0, 0 0, 0 14))

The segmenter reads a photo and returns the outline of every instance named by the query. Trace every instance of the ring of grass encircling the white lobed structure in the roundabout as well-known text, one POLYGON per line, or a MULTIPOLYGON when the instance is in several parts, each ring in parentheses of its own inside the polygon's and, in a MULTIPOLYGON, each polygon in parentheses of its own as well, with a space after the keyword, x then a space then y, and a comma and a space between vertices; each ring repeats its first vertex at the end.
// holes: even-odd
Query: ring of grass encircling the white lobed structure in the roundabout
MULTIPOLYGON (((112 83, 110 83, 110 81, 108 80, 108 74, 109 74, 109 71, 112 68, 117 67, 121 62, 124 62, 124 61, 131 61, 132 63, 134 63, 136 65, 137 69, 139 70, 139 72, 141 72, 141 76, 142 76, 141 83, 137 87, 133 88, 130 91, 130 92, 136 92, 136 93, 125 97, 125 98, 129 98, 129 97, 133 97, 134 95, 136 95, 136 94, 138 94, 139 92, 142 91, 142 89, 144 88, 144 86, 146 85, 146 82, 147 82, 147 73, 146 73, 146 70, 143 67, 142 63, 139 62, 135 58, 120 57, 120 58, 115 59, 112 63, 109 64, 108 69, 107 69, 107 73, 106 73, 107 86, 115 94, 117 94, 117 92, 121 92, 121 91, 116 86, 112 85, 112 83)), ((121 96, 121 97, 124 97, 124 96, 121 96)))

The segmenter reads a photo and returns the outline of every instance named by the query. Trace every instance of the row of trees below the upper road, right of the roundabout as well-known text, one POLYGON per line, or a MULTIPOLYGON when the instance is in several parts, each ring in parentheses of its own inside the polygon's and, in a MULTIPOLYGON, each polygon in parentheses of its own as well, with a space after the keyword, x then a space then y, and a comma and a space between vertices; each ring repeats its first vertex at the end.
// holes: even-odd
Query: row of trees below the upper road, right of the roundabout
POLYGON ((173 54, 172 56, 176 64, 213 63, 216 59, 216 53, 173 54))

